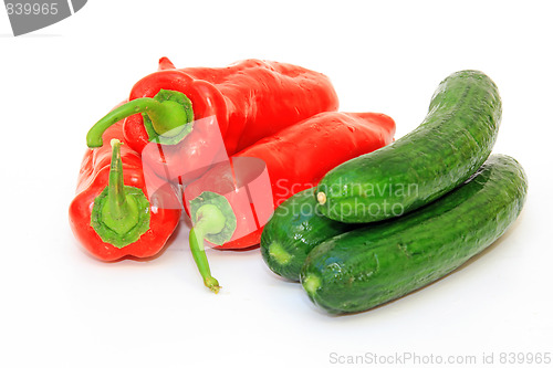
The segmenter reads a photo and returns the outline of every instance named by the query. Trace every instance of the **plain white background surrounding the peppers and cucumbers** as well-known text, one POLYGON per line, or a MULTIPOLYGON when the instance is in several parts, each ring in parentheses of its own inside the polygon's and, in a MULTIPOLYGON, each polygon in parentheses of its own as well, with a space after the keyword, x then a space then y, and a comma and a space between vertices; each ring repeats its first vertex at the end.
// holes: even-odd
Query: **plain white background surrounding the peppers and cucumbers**
POLYGON ((552 8, 91 0, 19 38, 0 10, 0 365, 327 367, 338 366, 333 353, 410 351, 479 361, 493 353, 500 366, 503 351, 553 353, 552 8), (223 285, 211 294, 186 227, 154 261, 101 263, 81 250, 67 221, 85 134, 164 55, 178 67, 258 57, 323 72, 342 111, 386 113, 396 137, 422 120, 444 77, 481 70, 503 99, 494 153, 526 169, 526 206, 469 266, 351 316, 319 311, 300 285, 268 270, 259 250, 209 251, 223 285))

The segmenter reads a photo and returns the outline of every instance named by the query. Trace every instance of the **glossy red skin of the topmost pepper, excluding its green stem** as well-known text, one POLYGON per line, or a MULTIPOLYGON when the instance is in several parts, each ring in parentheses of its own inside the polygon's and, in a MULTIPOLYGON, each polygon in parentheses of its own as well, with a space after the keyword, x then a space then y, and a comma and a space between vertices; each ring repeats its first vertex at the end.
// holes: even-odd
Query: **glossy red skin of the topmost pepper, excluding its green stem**
MULTIPOLYGON (((161 57, 159 71, 138 81, 129 101, 154 97, 160 90, 185 94, 195 119, 216 116, 228 155, 338 107, 336 92, 325 75, 260 60, 244 60, 226 67, 175 69, 167 57, 161 57)), ((131 148, 143 151, 149 136, 142 115, 125 119, 124 135, 131 148)))

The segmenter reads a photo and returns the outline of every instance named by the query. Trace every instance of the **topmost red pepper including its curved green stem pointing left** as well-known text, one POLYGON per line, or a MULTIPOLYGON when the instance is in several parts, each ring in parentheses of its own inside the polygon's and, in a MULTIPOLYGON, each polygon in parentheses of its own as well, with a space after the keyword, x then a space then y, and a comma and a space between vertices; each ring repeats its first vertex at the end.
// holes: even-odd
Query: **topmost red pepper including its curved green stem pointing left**
MULTIPOLYGON (((96 123, 87 145, 101 146, 102 133, 126 118, 125 141, 143 153, 149 141, 178 144, 190 133, 194 119, 215 116, 227 153, 232 155, 284 127, 337 107, 330 80, 301 66, 246 60, 227 67, 177 70, 163 57, 158 72, 135 84, 127 104, 96 123)), ((189 146, 181 145, 174 155, 186 160, 189 146)))

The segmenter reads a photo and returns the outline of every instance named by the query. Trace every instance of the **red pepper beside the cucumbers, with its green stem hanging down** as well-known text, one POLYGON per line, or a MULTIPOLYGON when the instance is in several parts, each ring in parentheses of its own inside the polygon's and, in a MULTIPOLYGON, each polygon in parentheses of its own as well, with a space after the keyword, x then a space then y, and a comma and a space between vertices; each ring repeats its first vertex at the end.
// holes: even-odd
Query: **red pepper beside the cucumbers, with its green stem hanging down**
POLYGON ((190 246, 205 284, 213 291, 219 287, 209 272, 204 239, 219 249, 259 244, 264 223, 282 201, 316 186, 335 166, 392 143, 394 133, 394 120, 384 114, 321 113, 259 140, 190 183, 184 202, 194 223, 190 246))

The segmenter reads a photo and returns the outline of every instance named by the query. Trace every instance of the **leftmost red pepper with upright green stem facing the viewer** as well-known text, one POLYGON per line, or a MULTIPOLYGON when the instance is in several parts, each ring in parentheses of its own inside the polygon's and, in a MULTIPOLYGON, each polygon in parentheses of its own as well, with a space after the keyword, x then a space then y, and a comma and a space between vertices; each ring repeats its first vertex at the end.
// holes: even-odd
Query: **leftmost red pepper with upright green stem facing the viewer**
POLYGON ((70 206, 73 233, 103 261, 153 256, 174 232, 181 210, 164 206, 171 192, 146 196, 140 156, 121 146, 123 123, 111 126, 103 139, 102 147, 88 149, 83 158, 70 206))

